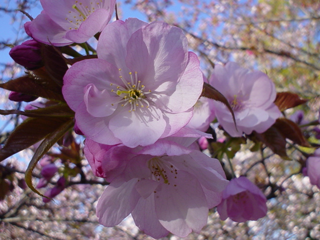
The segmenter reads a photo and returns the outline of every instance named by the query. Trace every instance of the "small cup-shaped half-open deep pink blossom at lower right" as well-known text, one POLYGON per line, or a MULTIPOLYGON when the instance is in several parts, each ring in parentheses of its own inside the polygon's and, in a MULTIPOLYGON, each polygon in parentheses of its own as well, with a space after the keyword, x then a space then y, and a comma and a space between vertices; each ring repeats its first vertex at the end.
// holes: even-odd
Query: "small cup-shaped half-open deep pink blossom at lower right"
POLYGON ((233 221, 257 220, 265 216, 266 198, 245 176, 233 178, 223 190, 222 201, 216 207, 220 218, 233 221))

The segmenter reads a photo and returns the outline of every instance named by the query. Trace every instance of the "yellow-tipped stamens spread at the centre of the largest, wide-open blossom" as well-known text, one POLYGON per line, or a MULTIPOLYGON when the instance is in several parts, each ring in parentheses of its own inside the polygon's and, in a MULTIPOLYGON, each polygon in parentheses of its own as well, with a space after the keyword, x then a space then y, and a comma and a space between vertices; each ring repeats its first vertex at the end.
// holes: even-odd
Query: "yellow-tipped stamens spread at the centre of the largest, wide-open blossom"
MULTIPOLYGON (((120 70, 121 69, 119 69, 119 71, 120 70)), ((129 112, 135 111, 137 107, 144 107, 145 104, 148 108, 150 104, 145 95, 150 93, 151 90, 144 90, 145 86, 138 80, 137 72, 135 72, 134 78, 132 72, 129 72, 129 76, 130 81, 126 81, 122 76, 119 76, 124 87, 116 86, 116 89, 111 89, 111 92, 115 92, 120 97, 119 101, 111 103, 111 105, 113 106, 114 104, 121 103, 121 106, 126 106, 129 104, 129 112)), ((113 84, 110 83, 110 86, 113 86, 113 84)))

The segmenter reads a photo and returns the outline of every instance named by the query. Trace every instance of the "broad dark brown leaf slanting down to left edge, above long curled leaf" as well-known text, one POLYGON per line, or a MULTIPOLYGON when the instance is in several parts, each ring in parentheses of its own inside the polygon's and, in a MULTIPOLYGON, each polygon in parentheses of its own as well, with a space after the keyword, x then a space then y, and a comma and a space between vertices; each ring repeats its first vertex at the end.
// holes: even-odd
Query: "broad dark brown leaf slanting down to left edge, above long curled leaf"
POLYGON ((0 161, 33 145, 70 119, 72 118, 27 118, 11 132, 4 146, 0 149, 0 161))

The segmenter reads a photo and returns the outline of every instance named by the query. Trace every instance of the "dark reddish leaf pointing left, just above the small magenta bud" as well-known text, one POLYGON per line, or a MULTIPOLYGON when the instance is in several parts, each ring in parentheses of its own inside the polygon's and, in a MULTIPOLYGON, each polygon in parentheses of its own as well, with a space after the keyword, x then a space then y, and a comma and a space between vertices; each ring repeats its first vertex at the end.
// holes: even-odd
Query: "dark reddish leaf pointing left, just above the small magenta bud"
POLYGON ((46 80, 34 79, 31 75, 21 76, 5 83, 0 83, 0 87, 51 100, 64 101, 61 88, 57 88, 56 85, 52 87, 52 84, 49 84, 46 80))

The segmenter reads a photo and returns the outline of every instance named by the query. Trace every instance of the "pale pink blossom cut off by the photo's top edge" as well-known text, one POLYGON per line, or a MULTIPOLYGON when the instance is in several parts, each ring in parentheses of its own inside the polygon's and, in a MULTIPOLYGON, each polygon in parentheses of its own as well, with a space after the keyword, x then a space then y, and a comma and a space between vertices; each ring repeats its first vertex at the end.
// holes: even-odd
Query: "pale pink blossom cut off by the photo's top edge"
POLYGON ((115 0, 40 0, 43 10, 24 24, 39 42, 65 46, 85 42, 111 19, 115 0))

